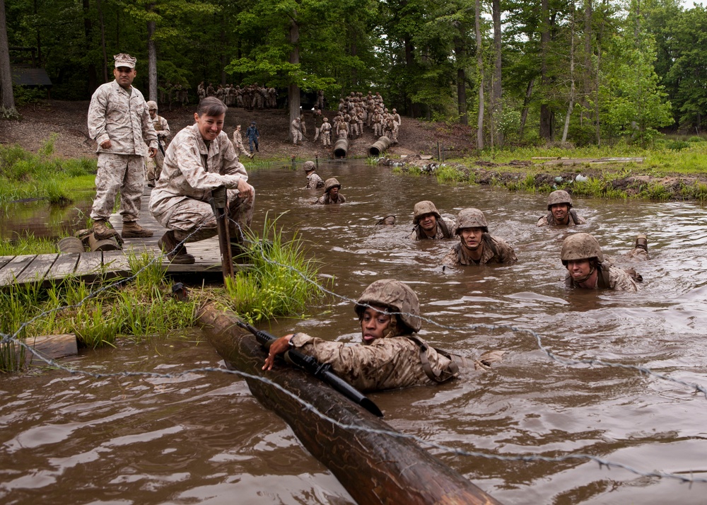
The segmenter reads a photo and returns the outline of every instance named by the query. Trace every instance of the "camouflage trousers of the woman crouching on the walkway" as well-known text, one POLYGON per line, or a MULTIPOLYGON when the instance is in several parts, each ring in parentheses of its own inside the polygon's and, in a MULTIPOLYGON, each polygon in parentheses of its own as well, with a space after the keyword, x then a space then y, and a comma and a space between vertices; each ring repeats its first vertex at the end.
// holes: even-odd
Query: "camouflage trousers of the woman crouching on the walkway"
MULTIPOLYGON (((228 190, 228 232, 231 242, 243 242, 243 232, 250 229, 255 209, 255 190, 250 197, 239 197, 235 190, 228 190)), ((218 234, 216 216, 209 202, 193 198, 182 200, 173 209, 166 221, 155 216, 160 224, 175 232, 180 242, 197 242, 218 234)))

